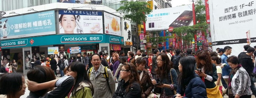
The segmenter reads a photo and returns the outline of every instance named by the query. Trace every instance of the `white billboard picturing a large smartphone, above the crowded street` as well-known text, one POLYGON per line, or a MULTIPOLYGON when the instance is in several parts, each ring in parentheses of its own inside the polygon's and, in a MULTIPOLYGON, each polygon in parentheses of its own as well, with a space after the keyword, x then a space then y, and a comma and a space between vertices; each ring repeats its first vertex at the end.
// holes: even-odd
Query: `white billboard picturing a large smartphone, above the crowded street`
POLYGON ((193 22, 192 5, 157 9, 146 16, 146 31, 188 26, 193 22))

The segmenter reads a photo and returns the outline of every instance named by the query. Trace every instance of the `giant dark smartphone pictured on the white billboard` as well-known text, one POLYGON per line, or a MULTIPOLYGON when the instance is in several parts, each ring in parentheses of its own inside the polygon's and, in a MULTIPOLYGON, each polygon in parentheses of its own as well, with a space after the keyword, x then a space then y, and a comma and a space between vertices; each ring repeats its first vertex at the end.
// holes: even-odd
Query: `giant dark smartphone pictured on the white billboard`
POLYGON ((188 24, 193 19, 193 13, 192 11, 184 11, 177 19, 175 19, 169 27, 182 27, 182 26, 188 26, 188 24))

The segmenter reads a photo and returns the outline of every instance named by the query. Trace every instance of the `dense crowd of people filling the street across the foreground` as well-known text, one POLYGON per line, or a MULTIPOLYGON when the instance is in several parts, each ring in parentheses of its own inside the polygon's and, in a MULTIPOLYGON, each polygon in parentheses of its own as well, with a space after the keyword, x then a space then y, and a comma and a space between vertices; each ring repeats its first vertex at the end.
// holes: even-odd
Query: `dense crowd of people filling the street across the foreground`
MULTIPOLYGON (((216 52, 176 49, 175 54, 172 49, 155 49, 148 55, 129 51, 127 56, 124 51, 90 57, 84 52, 69 61, 66 56, 47 58, 40 66, 31 60, 27 98, 251 98, 256 94, 256 46, 245 45, 244 49, 238 57, 228 57, 232 48, 225 46, 216 52), (56 79, 56 66, 60 79, 56 79)), ((6 68, 0 94, 19 98, 26 89, 24 76, 15 72, 15 60, 6 68)))

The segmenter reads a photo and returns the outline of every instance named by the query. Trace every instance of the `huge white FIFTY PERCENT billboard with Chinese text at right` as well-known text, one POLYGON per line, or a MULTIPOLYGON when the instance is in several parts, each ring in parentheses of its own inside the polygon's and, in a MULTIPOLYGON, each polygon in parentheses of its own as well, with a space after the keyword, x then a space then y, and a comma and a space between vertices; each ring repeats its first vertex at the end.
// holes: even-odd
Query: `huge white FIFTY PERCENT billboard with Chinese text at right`
POLYGON ((244 45, 255 46, 255 3, 252 0, 209 0, 212 50, 231 46, 231 55, 237 56, 244 45))

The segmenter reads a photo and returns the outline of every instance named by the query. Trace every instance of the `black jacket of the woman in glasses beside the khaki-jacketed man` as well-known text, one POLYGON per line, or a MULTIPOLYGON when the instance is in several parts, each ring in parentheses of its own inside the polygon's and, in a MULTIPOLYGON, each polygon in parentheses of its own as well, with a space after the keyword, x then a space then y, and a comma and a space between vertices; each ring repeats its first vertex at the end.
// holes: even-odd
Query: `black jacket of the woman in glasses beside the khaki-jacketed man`
POLYGON ((126 88, 129 87, 129 81, 125 83, 125 80, 118 82, 118 87, 112 98, 141 98, 141 86, 138 82, 131 83, 129 91, 126 92, 126 88))

